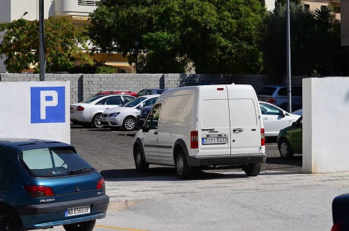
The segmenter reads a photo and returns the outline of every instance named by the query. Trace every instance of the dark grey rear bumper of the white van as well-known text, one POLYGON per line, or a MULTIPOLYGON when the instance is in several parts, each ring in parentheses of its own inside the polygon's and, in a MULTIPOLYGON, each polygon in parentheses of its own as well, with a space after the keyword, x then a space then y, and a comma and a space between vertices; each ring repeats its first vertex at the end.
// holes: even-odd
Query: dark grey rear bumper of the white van
POLYGON ((246 163, 265 163, 267 154, 240 154, 225 156, 187 156, 188 165, 244 165, 246 163))

